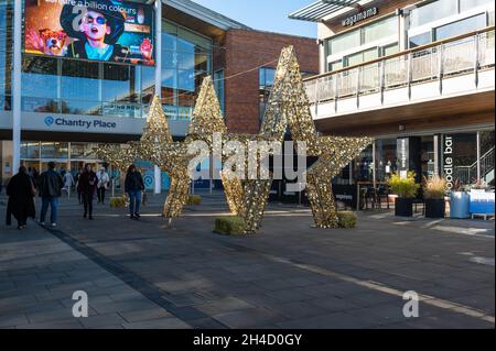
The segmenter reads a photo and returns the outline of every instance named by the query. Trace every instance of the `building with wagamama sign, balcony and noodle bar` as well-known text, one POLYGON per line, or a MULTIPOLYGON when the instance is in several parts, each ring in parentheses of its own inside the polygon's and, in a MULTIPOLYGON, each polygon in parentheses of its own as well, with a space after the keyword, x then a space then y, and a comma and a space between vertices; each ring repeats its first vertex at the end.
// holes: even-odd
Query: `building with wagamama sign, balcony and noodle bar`
POLYGON ((493 0, 321 0, 290 18, 319 29, 319 130, 377 138, 336 183, 414 171, 494 186, 493 0))

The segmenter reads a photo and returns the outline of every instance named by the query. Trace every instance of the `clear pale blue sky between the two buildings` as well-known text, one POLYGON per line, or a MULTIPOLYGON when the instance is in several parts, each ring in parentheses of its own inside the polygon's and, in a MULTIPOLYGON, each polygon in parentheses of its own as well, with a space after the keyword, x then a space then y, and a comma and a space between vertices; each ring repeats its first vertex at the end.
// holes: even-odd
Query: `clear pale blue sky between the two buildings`
POLYGON ((315 0, 193 0, 256 30, 316 37, 316 23, 288 19, 315 0))

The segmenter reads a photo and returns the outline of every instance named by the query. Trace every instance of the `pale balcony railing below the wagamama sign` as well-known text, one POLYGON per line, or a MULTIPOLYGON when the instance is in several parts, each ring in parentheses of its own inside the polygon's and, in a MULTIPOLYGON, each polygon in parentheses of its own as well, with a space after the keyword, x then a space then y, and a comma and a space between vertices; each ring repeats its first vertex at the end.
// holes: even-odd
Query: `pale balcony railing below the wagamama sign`
POLYGON ((495 29, 455 36, 304 80, 311 103, 381 94, 460 74, 477 75, 495 65, 495 29))

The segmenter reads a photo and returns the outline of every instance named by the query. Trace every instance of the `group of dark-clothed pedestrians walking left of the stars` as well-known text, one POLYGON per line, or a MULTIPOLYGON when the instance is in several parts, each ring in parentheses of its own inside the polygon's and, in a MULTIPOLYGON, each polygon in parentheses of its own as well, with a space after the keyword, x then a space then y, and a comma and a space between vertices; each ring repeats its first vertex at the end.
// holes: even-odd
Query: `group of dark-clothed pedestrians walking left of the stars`
MULTIPOLYGON (((35 218, 34 198, 36 190, 42 199, 40 215, 40 223, 42 226, 45 226, 48 207, 51 209, 50 223, 52 227, 57 226, 58 198, 63 189, 69 189, 73 185, 76 186, 79 204, 84 207, 84 219, 94 220, 93 201, 95 195, 97 195, 98 204, 105 204, 106 190, 110 183, 110 177, 105 167, 95 173, 91 164, 86 164, 76 175, 76 179, 74 179, 71 172, 57 173, 54 162, 50 162, 48 169, 40 176, 33 177, 30 172, 24 166, 21 166, 19 173, 10 179, 7 186, 7 195, 9 196, 7 226, 11 226, 12 216, 18 220, 18 229, 26 227, 28 218, 35 218)), ((126 174, 125 191, 130 200, 129 213, 131 219, 140 218, 141 194, 143 190, 144 183, 141 173, 134 165, 129 166, 126 174)))

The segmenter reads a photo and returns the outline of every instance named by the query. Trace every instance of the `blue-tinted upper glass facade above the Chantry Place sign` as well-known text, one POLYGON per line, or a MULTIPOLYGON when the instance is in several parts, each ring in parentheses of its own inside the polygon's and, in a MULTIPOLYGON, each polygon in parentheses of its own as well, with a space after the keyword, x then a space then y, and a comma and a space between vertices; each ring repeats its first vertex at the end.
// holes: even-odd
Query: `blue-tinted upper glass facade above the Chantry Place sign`
MULTIPOLYGON (((0 0, 1 110, 10 109, 12 7, 0 0)), ((200 85, 212 74, 212 40, 162 24, 162 103, 170 119, 188 120, 200 85)), ((154 83, 154 67, 23 54, 22 110, 144 118, 154 83)))

